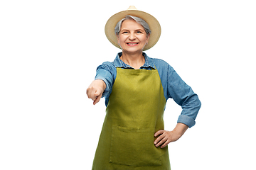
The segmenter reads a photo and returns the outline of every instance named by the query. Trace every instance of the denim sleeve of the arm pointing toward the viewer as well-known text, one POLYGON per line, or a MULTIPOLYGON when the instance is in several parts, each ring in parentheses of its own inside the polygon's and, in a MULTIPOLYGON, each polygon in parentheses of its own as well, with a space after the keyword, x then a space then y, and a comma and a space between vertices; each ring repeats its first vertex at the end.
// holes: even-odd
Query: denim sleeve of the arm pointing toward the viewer
POLYGON ((112 86, 114 84, 116 70, 111 66, 111 62, 104 62, 97 67, 95 79, 102 79, 106 84, 106 89, 102 94, 102 98, 109 95, 112 91, 112 86))

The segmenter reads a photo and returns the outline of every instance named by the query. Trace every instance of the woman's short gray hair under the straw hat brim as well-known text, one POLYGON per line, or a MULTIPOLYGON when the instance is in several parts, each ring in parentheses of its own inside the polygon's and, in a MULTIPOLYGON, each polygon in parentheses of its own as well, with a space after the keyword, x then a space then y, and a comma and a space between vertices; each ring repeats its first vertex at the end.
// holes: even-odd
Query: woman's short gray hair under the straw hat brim
POLYGON ((117 23, 117 26, 115 26, 114 28, 114 33, 116 35, 119 35, 120 33, 120 28, 122 26, 122 22, 124 22, 125 20, 131 20, 133 19, 134 21, 136 21, 137 23, 139 23, 140 25, 143 26, 144 30, 146 31, 146 35, 149 35, 151 33, 151 30, 149 28, 149 24, 146 23, 146 21, 144 21, 142 18, 139 18, 137 16, 125 16, 125 18, 122 18, 122 20, 120 20, 118 23, 117 23))

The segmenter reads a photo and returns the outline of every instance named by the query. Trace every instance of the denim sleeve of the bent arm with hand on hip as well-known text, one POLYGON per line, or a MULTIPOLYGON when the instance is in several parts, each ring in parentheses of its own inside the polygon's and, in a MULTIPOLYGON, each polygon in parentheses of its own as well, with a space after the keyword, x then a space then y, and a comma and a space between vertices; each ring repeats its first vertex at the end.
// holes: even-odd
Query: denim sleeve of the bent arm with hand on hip
POLYGON ((183 123, 191 128, 196 124, 195 120, 201 108, 201 101, 198 95, 178 76, 170 65, 168 68, 167 88, 169 98, 173 98, 182 108, 177 123, 183 123))

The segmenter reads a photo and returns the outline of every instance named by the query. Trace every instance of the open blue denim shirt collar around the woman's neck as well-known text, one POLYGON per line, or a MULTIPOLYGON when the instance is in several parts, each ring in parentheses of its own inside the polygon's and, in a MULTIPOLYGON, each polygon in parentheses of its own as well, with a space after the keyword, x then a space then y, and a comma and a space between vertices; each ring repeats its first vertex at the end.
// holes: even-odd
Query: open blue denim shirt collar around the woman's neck
MULTIPOLYGON (((145 57, 145 63, 143 64, 142 67, 146 68, 146 67, 151 67, 153 69, 156 69, 154 62, 151 58, 149 58, 145 52, 142 52, 142 55, 145 57)), ((122 56, 122 52, 119 52, 117 54, 117 57, 114 59, 114 67, 122 67, 124 69, 134 69, 133 67, 129 66, 128 64, 125 64, 120 57, 122 56)))

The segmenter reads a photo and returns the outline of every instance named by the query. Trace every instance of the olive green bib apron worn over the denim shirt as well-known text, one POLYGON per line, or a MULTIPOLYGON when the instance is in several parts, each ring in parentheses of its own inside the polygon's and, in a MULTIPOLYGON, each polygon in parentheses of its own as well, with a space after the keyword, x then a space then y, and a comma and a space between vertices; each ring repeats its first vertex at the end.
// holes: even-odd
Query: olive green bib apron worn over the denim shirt
POLYGON ((168 147, 154 146, 165 104, 157 69, 117 68, 92 170, 171 169, 168 147))

